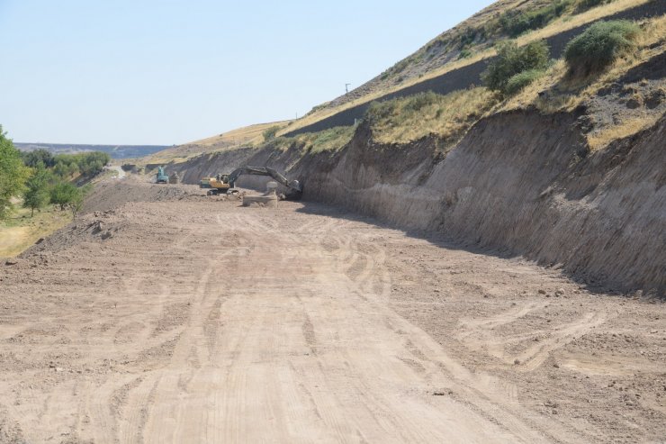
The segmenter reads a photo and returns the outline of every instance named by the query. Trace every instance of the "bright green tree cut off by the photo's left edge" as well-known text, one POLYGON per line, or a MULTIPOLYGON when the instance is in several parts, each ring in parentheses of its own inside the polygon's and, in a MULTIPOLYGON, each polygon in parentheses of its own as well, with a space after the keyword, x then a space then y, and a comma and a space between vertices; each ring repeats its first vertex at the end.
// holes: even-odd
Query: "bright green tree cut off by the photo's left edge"
POLYGON ((7 217, 12 209, 12 197, 21 194, 30 173, 23 165, 21 152, 5 136, 0 125, 0 219, 7 217))

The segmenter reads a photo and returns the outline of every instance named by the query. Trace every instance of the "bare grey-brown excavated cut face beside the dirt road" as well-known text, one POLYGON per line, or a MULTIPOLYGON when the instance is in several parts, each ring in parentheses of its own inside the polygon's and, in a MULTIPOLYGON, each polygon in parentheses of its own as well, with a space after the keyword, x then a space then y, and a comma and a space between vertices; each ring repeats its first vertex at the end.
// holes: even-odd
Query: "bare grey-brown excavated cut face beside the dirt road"
POLYGON ((435 138, 383 146, 361 126, 337 153, 231 151, 179 168, 190 183, 204 170, 281 168, 302 180, 306 200, 560 265, 593 284, 663 295, 666 119, 590 154, 577 122, 571 113, 495 114, 446 156, 435 138))

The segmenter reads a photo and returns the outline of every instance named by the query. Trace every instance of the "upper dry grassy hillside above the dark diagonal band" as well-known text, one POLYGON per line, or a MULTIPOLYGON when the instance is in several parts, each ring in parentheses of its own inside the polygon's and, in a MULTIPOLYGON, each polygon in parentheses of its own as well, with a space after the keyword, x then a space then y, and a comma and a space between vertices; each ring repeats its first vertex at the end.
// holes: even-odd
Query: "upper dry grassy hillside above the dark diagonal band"
POLYGON ((383 95, 489 59, 496 54, 494 47, 499 41, 513 39, 519 45, 538 41, 648 1, 500 0, 443 32, 365 85, 326 104, 315 106, 310 113, 294 121, 282 132, 302 128, 358 104, 369 103, 383 95), (530 17, 540 19, 533 18, 530 21, 530 17), (517 28, 510 23, 520 22, 522 18, 531 24, 517 33, 517 28))

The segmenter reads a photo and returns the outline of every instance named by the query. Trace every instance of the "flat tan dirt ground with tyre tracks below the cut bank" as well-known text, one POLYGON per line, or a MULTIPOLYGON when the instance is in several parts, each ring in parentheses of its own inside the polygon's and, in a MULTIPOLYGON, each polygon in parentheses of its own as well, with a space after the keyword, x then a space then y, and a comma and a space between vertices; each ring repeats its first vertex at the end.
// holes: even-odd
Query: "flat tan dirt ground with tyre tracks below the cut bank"
POLYGON ((666 305, 109 181, 0 266, 0 442, 663 442, 666 305))

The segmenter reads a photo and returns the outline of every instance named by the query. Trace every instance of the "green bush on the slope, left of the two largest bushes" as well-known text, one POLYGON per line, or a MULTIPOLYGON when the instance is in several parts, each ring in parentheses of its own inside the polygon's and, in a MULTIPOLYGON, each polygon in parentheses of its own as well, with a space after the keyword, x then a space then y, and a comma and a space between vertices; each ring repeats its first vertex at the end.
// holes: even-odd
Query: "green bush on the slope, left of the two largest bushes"
POLYGON ((497 59, 482 74, 483 84, 493 91, 507 94, 509 79, 524 71, 548 67, 550 51, 545 41, 532 41, 518 47, 513 41, 500 43, 497 59))

